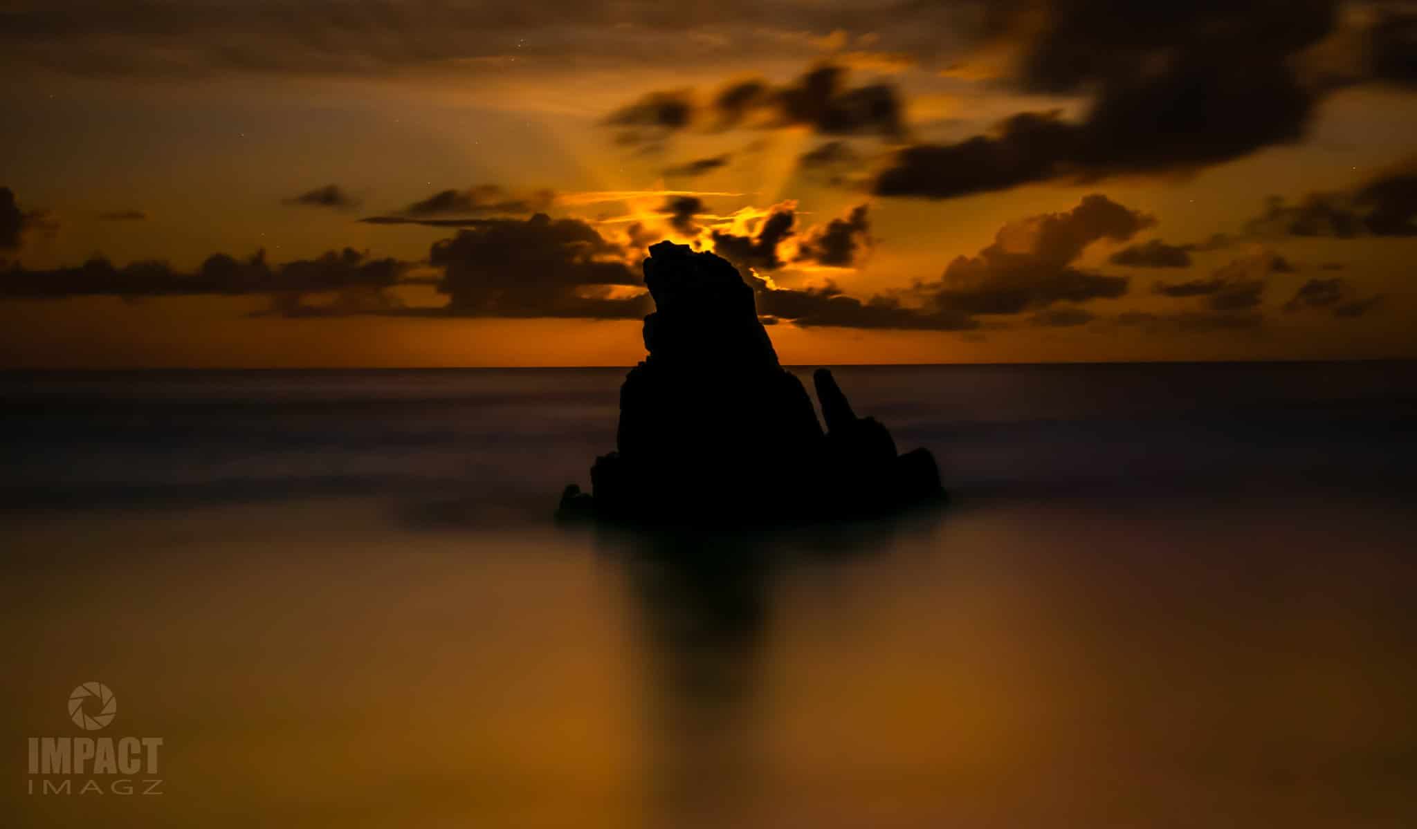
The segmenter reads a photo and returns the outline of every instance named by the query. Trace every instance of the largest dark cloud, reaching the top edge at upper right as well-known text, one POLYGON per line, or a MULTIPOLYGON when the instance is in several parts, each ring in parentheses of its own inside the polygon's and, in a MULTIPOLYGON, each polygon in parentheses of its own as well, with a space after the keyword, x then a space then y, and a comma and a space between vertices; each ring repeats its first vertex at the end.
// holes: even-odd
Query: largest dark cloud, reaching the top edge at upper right
POLYGON ((992 135, 901 150, 876 193, 952 198, 1032 181, 1190 171, 1297 142, 1319 91, 1291 58, 1336 24, 1335 0, 1006 4, 1023 92, 1091 94, 1078 120, 1024 112, 992 135))

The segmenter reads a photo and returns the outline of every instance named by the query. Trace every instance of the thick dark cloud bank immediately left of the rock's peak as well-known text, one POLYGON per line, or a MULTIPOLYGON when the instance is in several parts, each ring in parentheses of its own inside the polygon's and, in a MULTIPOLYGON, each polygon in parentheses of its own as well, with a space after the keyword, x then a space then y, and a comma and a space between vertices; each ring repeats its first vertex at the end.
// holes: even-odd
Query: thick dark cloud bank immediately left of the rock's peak
POLYGON ((650 302, 648 295, 614 293, 616 286, 642 285, 623 255, 589 224, 538 213, 459 231, 434 242, 428 261, 444 268, 442 313, 635 319, 650 302))

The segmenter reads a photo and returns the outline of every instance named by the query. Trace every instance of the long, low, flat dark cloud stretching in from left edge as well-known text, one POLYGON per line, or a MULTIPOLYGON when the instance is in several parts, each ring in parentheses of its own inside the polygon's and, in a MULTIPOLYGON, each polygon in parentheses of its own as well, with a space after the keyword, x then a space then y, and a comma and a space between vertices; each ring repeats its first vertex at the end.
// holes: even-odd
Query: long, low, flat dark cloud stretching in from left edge
POLYGON ((166 262, 132 262, 116 266, 108 259, 96 258, 74 268, 7 271, 0 273, 0 296, 16 299, 122 296, 136 299, 196 295, 302 295, 350 288, 390 288, 398 282, 404 269, 405 264, 402 262, 374 259, 368 254, 351 248, 278 266, 266 264, 264 251, 245 259, 214 254, 191 272, 177 271, 166 262))

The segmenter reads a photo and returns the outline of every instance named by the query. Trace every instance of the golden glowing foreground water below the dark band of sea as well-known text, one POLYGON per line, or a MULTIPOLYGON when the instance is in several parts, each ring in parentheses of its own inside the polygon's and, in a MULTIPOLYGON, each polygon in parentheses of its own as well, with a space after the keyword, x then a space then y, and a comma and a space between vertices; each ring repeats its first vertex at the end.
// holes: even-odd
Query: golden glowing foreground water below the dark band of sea
POLYGON ((6 534, 6 826, 1417 825, 1397 497, 966 502, 713 557, 381 499, 6 534), (26 767, 123 735, 154 774, 26 767))

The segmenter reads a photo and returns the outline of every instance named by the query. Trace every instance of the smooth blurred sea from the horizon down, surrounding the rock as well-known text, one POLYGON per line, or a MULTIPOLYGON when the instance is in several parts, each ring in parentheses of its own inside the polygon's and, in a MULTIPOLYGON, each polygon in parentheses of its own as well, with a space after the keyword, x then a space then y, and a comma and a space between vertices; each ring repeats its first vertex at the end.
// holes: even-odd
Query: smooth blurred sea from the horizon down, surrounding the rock
POLYGON ((837 368, 951 509, 697 541, 550 523, 622 374, 0 376, 4 823, 1417 823, 1413 364, 837 368))

